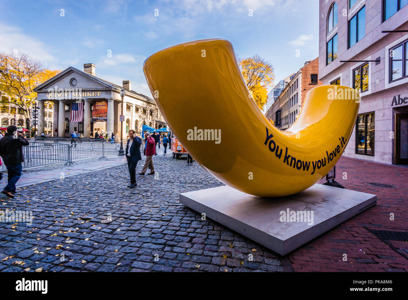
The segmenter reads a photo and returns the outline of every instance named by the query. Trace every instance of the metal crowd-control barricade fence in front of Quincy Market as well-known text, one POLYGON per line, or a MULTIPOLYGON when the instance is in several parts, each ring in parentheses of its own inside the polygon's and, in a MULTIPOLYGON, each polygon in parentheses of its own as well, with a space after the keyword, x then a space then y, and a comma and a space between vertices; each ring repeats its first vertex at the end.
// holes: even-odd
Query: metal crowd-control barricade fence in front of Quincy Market
MULTIPOLYGON (((108 156, 124 154, 125 147, 126 141, 112 142, 104 140, 104 142, 73 142, 71 144, 68 140, 54 143, 53 141, 47 141, 47 138, 45 141, 44 138, 42 140, 41 138, 36 138, 28 146, 22 147, 24 155, 22 167, 26 169, 62 162, 65 162, 65 165, 76 164, 78 161, 92 158, 108 159, 108 156)), ((143 149, 142 147, 140 148, 141 150, 143 149)), ((2 163, 1 170, 6 170, 4 162, 2 163)))

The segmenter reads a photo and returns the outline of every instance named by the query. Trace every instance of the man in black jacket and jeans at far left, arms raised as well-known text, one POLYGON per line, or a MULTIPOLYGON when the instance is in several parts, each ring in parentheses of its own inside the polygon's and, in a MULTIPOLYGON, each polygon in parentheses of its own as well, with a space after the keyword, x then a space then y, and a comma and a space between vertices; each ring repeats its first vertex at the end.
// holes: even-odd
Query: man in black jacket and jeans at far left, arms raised
POLYGON ((11 125, 7 127, 7 133, 0 139, 0 156, 7 168, 8 183, 2 190, 2 193, 9 198, 14 198, 16 192, 16 182, 20 179, 24 155, 22 146, 28 146, 29 141, 17 132, 17 138, 14 133, 17 127, 11 125))

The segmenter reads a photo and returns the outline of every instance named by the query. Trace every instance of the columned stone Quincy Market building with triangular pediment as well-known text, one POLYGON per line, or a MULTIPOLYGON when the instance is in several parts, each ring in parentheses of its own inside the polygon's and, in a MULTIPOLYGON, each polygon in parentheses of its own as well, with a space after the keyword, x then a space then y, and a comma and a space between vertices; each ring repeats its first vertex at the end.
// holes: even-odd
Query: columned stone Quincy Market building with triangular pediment
MULTIPOLYGON (((44 102, 53 102, 54 136, 69 138, 72 131, 84 138, 95 136, 95 132, 118 133, 120 137, 120 115, 124 89, 123 132, 129 129, 140 134, 142 125, 153 128, 166 127, 166 121, 157 109, 155 101, 131 89, 130 81, 123 81, 122 87, 95 76, 95 64, 84 64, 84 71, 69 67, 34 89, 37 92, 40 120, 38 136, 44 132, 44 102), (82 122, 71 122, 74 102, 83 102, 82 122)), ((124 138, 123 137, 123 138, 124 138)))

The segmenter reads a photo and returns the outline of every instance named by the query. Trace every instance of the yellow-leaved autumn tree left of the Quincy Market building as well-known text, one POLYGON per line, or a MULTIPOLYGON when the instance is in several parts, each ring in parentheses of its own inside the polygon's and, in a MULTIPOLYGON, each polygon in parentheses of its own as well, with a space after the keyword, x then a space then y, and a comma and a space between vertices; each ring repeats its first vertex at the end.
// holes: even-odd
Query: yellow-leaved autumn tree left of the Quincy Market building
POLYGON ((35 60, 29 54, 12 51, 0 53, 0 105, 9 105, 11 102, 24 111, 24 117, 30 117, 30 108, 37 93, 35 87, 60 73, 58 70, 49 70, 44 63, 35 60))

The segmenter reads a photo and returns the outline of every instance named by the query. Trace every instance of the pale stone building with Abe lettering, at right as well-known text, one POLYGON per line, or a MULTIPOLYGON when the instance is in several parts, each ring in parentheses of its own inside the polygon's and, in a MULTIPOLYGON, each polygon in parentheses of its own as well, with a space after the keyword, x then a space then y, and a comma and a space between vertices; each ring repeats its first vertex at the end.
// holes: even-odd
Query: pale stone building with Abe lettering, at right
POLYGON ((361 95, 344 155, 408 164, 408 1, 319 3, 319 80, 361 95))

